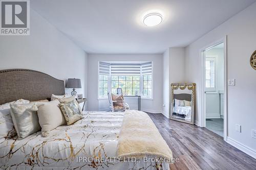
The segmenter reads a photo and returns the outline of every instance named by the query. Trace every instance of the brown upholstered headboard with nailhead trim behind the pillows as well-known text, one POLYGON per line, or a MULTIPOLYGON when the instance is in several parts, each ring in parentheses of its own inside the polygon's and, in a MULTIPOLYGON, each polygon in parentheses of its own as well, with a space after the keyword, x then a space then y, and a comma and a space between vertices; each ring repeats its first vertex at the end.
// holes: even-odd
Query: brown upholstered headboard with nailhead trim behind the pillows
POLYGON ((52 94, 65 94, 63 80, 30 69, 0 70, 0 104, 18 99, 44 100, 52 94))

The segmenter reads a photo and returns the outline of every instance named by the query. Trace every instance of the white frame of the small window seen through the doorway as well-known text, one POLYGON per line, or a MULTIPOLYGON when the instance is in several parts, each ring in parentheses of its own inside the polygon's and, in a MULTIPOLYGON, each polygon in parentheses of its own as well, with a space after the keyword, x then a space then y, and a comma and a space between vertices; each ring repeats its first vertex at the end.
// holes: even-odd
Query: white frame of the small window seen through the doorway
POLYGON ((209 56, 209 57, 205 57, 205 61, 204 61, 204 89, 207 92, 215 92, 217 89, 217 57, 216 56, 209 56), (214 87, 206 87, 206 61, 214 61, 215 65, 214 65, 214 87))

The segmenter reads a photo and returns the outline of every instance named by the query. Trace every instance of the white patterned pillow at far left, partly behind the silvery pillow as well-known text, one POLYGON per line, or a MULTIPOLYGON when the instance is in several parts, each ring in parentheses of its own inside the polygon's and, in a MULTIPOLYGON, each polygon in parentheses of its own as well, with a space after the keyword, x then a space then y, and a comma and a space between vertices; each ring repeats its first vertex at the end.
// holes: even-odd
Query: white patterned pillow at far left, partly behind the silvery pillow
POLYGON ((0 105, 0 142, 2 141, 2 139, 5 140, 5 138, 12 138, 17 135, 10 113, 10 104, 12 103, 26 104, 29 103, 29 101, 19 99, 17 101, 0 105))

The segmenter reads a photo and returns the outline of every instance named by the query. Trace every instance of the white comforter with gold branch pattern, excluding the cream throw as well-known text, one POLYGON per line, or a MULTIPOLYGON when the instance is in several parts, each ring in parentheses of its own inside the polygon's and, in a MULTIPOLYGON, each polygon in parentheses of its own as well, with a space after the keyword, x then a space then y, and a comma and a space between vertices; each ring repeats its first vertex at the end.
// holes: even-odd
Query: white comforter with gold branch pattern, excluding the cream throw
POLYGON ((0 168, 169 169, 165 162, 127 162, 116 158, 123 112, 84 114, 84 119, 71 126, 57 127, 49 137, 41 137, 37 132, 22 140, 14 137, 1 142, 0 168))

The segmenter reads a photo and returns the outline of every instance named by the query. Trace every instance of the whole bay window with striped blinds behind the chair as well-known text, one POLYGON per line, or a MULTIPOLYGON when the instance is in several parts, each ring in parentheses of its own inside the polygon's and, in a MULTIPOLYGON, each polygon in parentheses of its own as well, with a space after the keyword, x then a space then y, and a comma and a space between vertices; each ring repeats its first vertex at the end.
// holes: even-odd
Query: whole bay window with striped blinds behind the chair
POLYGON ((124 95, 142 95, 152 98, 152 62, 108 63, 99 62, 98 99, 108 98, 108 92, 124 95))

